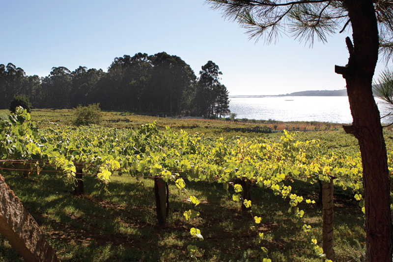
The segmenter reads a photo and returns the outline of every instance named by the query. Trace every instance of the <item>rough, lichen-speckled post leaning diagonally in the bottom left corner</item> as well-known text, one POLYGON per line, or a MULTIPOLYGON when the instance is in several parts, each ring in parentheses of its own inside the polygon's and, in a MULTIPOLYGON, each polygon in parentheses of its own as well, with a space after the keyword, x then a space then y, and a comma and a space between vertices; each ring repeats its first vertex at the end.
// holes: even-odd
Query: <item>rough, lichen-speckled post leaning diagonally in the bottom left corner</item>
POLYGON ((37 222, 1 175, 0 234, 27 262, 60 262, 37 222))

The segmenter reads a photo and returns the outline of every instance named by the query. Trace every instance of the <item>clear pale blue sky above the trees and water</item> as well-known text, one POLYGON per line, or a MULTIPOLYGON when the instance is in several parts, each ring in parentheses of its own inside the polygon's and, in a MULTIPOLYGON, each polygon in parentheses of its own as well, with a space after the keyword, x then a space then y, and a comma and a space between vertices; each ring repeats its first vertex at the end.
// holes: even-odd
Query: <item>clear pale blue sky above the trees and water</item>
MULTIPOLYGON (((28 75, 52 67, 107 71, 115 57, 165 51, 180 56, 198 76, 212 60, 229 95, 278 95, 345 86, 334 66, 345 65, 348 32, 313 48, 283 35, 276 44, 249 40, 204 0, 1 1, 0 64, 28 75)), ((376 74, 385 64, 379 62, 376 74)))

